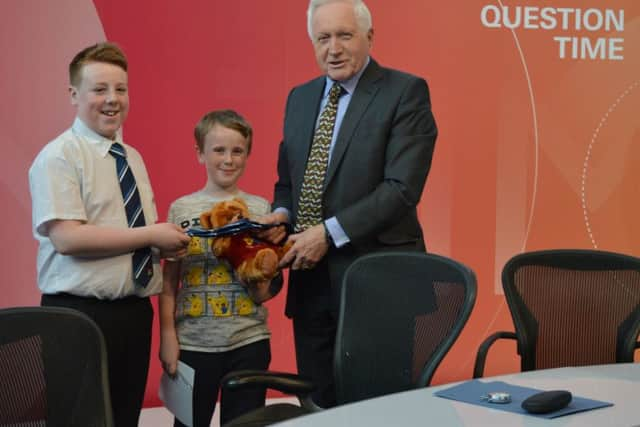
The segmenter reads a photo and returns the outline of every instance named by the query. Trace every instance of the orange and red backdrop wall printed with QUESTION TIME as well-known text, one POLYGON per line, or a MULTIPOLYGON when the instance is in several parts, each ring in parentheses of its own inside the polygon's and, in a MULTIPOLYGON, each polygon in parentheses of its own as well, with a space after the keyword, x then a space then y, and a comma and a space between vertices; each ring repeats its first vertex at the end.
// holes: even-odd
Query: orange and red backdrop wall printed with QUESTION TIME
MULTIPOLYGON (((597 247, 640 256, 640 3, 369 0, 373 56, 425 77, 440 129, 420 203, 429 250, 478 276, 469 324, 435 382, 469 378, 475 349, 513 328, 499 284, 523 250, 597 247), (639 234, 636 234, 639 233, 639 234)), ((69 126, 66 67, 82 47, 113 40, 130 60, 126 140, 144 155, 161 218, 204 183, 192 129, 211 109, 254 125, 242 187, 271 197, 284 102, 318 74, 301 0, 4 0, 0 3, 0 306, 34 305, 35 242, 27 170, 69 126)), ((294 369, 284 295, 269 303, 273 363, 294 369)), ((157 332, 155 333, 157 338, 157 332)), ((157 405, 154 357, 147 405, 157 405)), ((498 345, 488 374, 519 369, 498 345)))

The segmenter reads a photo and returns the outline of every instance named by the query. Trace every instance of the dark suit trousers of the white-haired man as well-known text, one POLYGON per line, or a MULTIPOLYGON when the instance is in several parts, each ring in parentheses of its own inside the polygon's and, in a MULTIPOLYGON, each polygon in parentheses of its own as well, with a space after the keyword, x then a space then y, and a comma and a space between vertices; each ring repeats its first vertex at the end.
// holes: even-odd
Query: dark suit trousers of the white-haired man
POLYGON ((314 403, 330 408, 336 405, 333 359, 338 314, 328 265, 324 261, 312 270, 289 274, 296 283, 295 289, 289 287, 287 309, 293 317, 298 372, 316 385, 314 403))

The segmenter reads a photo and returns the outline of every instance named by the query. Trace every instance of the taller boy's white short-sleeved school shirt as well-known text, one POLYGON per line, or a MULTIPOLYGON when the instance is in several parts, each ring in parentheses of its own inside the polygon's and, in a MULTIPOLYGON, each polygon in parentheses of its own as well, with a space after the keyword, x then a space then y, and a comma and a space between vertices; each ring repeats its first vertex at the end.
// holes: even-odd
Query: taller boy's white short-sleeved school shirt
POLYGON ((62 255, 49 239, 46 224, 55 219, 128 227, 115 159, 109 154, 113 142, 125 147, 146 224, 153 224, 158 219, 140 153, 123 143, 120 130, 112 141, 76 118, 70 129, 40 151, 29 169, 33 235, 39 243, 38 287, 44 294, 66 292, 113 300, 131 295, 153 295, 162 289, 160 260, 155 254, 153 277, 147 287, 142 288, 133 281, 132 253, 99 258, 62 255))

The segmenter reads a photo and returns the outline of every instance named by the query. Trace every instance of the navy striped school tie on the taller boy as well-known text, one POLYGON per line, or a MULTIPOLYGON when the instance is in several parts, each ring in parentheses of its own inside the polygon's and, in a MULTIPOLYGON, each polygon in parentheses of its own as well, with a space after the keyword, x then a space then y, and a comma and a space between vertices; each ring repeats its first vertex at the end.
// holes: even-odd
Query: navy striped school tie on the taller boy
MULTIPOLYGON (((116 159, 116 172, 120 181, 120 190, 124 199, 124 210, 127 213, 127 223, 129 227, 142 227, 145 225, 144 212, 140 202, 140 194, 136 179, 129 168, 127 153, 124 147, 114 142, 109 149, 109 153, 116 159)), ((151 259, 151 248, 140 248, 133 252, 133 280, 137 285, 146 287, 153 276, 153 261, 151 259)))

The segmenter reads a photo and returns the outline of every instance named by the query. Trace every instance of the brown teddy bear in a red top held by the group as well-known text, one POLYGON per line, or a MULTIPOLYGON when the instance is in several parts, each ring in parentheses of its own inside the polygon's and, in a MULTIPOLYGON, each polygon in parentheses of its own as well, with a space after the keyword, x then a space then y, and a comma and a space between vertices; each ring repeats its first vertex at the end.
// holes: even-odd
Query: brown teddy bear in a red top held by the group
MULTIPOLYGON (((216 229, 249 217, 244 200, 236 197, 218 202, 210 211, 200 215, 200 225, 216 229)), ((278 263, 289 245, 276 245, 254 237, 250 231, 231 236, 215 237, 211 249, 216 257, 224 258, 235 269, 238 277, 247 285, 264 283, 278 274, 278 263)))

